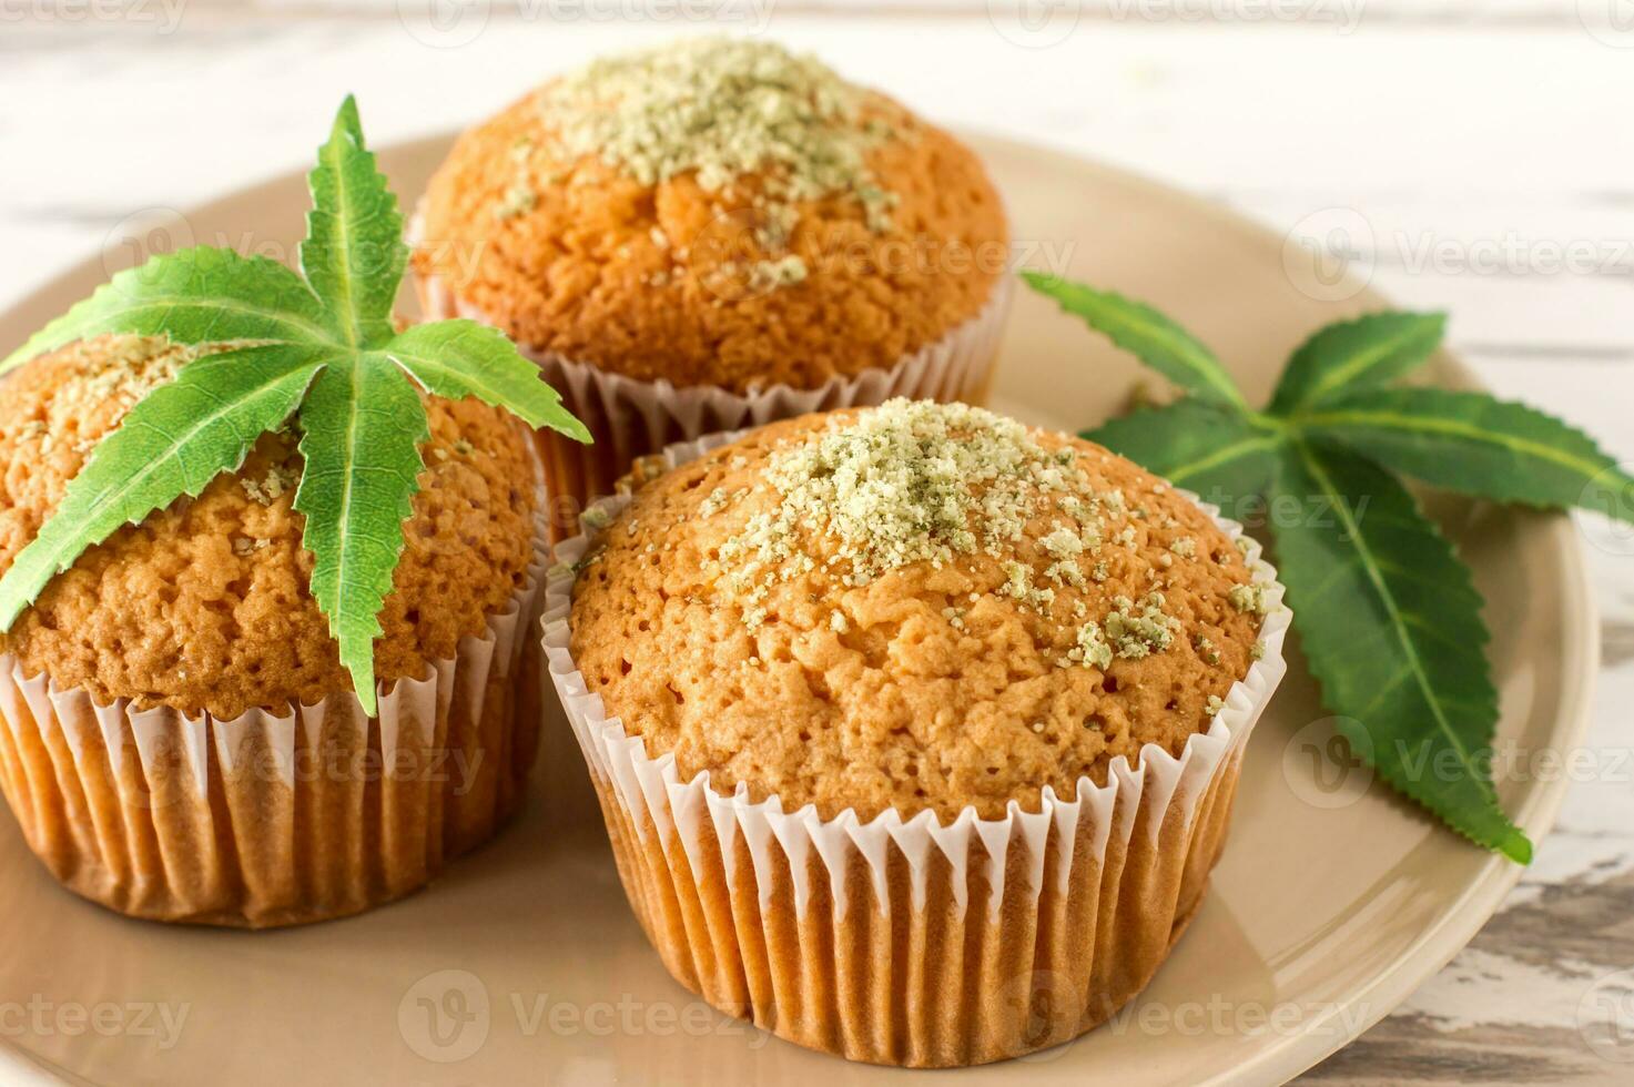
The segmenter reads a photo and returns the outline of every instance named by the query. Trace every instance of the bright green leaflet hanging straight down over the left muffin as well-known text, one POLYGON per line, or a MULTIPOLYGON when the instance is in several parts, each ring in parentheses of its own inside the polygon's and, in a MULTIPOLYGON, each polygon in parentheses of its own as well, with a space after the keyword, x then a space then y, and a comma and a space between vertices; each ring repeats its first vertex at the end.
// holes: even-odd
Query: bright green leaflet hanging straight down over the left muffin
POLYGON ((312 597, 371 716, 379 611, 420 489, 420 443, 430 435, 420 394, 392 365, 325 369, 301 407, 306 466, 294 505, 306 515, 302 543, 317 559, 312 597))

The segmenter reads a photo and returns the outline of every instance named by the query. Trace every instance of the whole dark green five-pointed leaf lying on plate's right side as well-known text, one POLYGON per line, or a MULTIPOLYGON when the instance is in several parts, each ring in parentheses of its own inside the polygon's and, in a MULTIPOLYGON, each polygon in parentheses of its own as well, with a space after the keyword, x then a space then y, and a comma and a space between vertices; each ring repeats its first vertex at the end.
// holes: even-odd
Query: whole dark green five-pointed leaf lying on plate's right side
POLYGON ((1149 306, 1025 278, 1191 394, 1085 438, 1221 505, 1270 499, 1306 657, 1353 750, 1459 834, 1528 863, 1531 842, 1498 807, 1487 773, 1498 701, 1480 595, 1392 472, 1626 521, 1634 479, 1592 438, 1534 409, 1392 387, 1441 343, 1441 314, 1371 314, 1319 330, 1257 412, 1208 348, 1149 306))

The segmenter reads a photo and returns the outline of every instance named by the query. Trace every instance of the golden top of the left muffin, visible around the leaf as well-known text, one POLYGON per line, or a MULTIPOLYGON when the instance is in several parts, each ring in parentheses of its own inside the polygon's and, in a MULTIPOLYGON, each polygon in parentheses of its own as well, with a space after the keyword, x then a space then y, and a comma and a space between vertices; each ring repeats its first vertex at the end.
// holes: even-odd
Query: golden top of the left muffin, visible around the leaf
MULTIPOLYGON (((196 353, 101 338, 13 371, 0 397, 0 572, 38 533, 92 448, 196 353)), ((533 464, 520 425, 474 400, 426 397, 426 471, 374 644, 381 682, 420 677, 480 634, 533 561, 533 464)), ((309 592, 296 438, 263 435, 237 474, 127 525, 52 579, 0 651, 29 675, 235 718, 312 703, 351 678, 309 592)))

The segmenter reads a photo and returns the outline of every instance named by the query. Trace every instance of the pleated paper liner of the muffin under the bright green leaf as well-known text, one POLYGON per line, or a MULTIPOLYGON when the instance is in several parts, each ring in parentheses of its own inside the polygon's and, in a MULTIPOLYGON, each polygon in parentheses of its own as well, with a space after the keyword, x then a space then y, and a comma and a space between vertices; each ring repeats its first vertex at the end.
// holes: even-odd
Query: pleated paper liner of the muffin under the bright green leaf
POLYGON ((29 677, 0 655, 0 788, 72 891, 152 920, 263 928, 425 886, 516 811, 538 747, 544 517, 526 580, 482 636, 379 716, 335 693, 230 721, 29 677))

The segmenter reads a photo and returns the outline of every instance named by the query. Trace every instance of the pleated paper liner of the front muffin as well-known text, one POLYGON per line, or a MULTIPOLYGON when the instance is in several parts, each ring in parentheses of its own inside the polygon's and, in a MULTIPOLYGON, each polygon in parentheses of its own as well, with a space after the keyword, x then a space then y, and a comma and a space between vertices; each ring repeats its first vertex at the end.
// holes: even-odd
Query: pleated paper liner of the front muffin
MULTIPOLYGON (((675 446, 686 463, 737 435, 675 446)), ((1196 495, 1188 495, 1196 500, 1196 495)), ((618 513, 629 497, 603 500, 618 513)), ((1242 526, 1199 502, 1232 538, 1242 526)), ((546 587, 551 678, 585 754, 629 901, 665 966, 709 1004, 789 1041, 855 1061, 943 1067, 1052 1046, 1106 1020, 1150 981, 1191 920, 1219 858, 1248 734, 1286 672, 1289 613, 1265 582, 1263 659, 1180 757, 1145 745, 1105 785, 1052 788, 1038 811, 974 807, 869 822, 778 796, 732 794, 588 693, 569 651, 575 562, 557 546, 546 587)))

